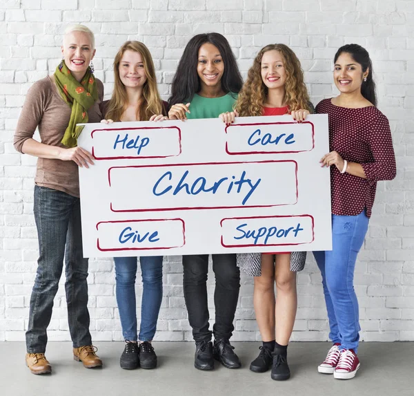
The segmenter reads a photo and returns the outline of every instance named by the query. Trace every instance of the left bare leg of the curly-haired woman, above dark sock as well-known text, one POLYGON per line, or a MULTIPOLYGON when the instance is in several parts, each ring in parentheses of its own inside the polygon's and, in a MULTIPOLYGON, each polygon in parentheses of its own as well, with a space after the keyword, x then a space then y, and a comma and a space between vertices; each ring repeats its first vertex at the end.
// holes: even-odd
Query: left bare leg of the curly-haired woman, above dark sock
POLYGON ((253 304, 262 341, 275 339, 275 267, 273 254, 262 254, 262 275, 255 276, 253 304))

